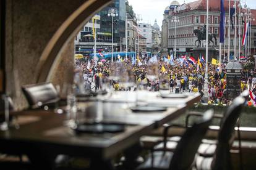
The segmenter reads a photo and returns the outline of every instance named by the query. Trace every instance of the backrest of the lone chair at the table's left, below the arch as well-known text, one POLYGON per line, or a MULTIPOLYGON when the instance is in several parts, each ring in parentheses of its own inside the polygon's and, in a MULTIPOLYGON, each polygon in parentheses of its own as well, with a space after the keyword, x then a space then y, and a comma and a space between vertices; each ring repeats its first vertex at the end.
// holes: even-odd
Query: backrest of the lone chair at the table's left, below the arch
POLYGON ((40 83, 22 86, 22 91, 30 107, 37 105, 38 102, 44 104, 50 100, 58 99, 58 92, 52 83, 40 83))

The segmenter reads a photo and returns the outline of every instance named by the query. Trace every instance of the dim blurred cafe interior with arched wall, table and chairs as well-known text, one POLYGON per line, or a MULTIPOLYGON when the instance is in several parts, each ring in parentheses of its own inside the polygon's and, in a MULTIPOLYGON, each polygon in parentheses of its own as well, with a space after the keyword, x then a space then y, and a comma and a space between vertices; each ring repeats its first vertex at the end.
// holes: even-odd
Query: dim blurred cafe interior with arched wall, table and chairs
POLYGON ((75 35, 110 2, 0 1, 0 169, 256 169, 248 91, 224 108, 200 94, 60 94, 75 35))

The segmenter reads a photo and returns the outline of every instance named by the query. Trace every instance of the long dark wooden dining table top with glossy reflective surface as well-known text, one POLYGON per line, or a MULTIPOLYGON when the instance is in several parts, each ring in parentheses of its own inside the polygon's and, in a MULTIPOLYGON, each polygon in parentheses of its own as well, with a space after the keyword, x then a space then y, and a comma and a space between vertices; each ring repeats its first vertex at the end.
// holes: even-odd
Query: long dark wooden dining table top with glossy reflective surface
MULTIPOLYGON (((114 92, 95 99, 79 100, 76 118, 86 121, 88 115, 102 109, 101 121, 124 124, 124 131, 77 133, 66 125, 69 116, 65 111, 56 113, 51 108, 14 111, 10 114, 15 117, 15 126, 0 131, 1 152, 26 153, 32 148, 40 148, 56 155, 108 160, 134 145, 140 137, 184 114, 187 108, 200 100, 200 94, 171 94, 163 98, 159 92, 114 92), (165 107, 166 110, 135 112, 130 109, 137 105, 165 107)), ((59 108, 65 110, 65 107, 59 108)))

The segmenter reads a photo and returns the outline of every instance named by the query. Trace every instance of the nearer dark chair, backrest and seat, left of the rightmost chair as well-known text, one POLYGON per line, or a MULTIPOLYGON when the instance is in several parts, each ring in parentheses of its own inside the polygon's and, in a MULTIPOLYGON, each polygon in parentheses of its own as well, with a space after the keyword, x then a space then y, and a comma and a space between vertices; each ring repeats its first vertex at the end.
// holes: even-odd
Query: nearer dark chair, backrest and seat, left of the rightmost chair
POLYGON ((208 110, 187 128, 173 152, 167 150, 153 150, 147 161, 137 169, 190 169, 194 163, 195 154, 211 123, 213 110, 208 110))

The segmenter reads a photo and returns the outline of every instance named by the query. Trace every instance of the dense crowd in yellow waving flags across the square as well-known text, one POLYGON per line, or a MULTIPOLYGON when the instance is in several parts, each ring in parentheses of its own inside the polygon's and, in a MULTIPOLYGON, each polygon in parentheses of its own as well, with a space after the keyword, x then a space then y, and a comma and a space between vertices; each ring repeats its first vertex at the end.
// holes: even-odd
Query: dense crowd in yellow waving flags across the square
MULTIPOLYGON (((85 92, 96 92, 106 87, 113 91, 136 91, 140 87, 147 89, 147 91, 168 89, 171 93, 199 92, 203 97, 205 89, 205 63, 201 63, 200 67, 198 67, 197 63, 192 65, 189 62, 181 63, 180 60, 173 60, 172 64, 170 64, 163 57, 158 57, 154 62, 138 57, 135 62, 134 59, 128 58, 119 59, 115 63, 122 65, 122 68, 125 68, 126 71, 132 71, 133 77, 131 79, 133 79, 133 85, 125 86, 126 83, 121 81, 120 77, 129 76, 129 74, 123 75, 126 72, 124 70, 119 70, 119 78, 111 75, 114 69, 118 70, 119 68, 113 67, 113 63, 109 60, 101 60, 99 62, 95 60, 87 62, 75 60, 77 76, 82 76, 85 92), (151 65, 158 67, 156 71, 158 73, 151 73, 153 70, 153 68, 150 68, 151 65), (106 79, 108 80, 106 81, 106 79), (108 84, 108 86, 103 87, 104 83, 108 84)), ((229 102, 226 99, 225 66, 225 63, 221 65, 208 64, 208 104, 224 104, 229 102)), ((128 79, 130 81, 130 78, 128 79)), ((256 78, 254 79, 254 72, 252 70, 243 70, 242 72, 241 92, 245 89, 250 89, 256 95, 256 78)))

